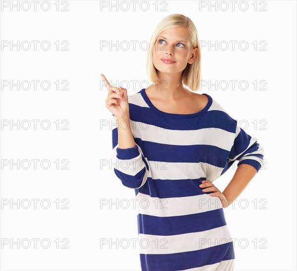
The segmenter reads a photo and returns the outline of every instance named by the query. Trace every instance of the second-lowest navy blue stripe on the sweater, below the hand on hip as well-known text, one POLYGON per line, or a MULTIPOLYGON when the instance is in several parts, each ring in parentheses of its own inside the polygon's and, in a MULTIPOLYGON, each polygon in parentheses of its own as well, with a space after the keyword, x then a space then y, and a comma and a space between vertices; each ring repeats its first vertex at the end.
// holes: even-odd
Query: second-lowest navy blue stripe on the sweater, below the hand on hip
MULTIPOLYGON (((211 201, 204 204, 210 206, 211 201)), ((215 201, 212 201, 212 204, 215 205, 215 201)), ((163 207, 166 207, 166 205, 163 207)), ((156 208, 161 208, 161 206, 159 205, 156 208)), ((197 206, 197 210, 199 208, 201 207, 197 206)), ((209 230, 226 225, 223 208, 173 217, 155 217, 138 214, 137 220, 139 225, 138 233, 164 236, 209 230)))

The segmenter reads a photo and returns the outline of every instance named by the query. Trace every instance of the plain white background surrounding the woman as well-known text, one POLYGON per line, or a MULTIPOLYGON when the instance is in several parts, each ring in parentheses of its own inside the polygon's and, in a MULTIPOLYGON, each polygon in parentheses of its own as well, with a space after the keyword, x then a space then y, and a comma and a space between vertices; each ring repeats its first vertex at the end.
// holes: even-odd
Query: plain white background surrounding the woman
MULTIPOLYGON (((41 3, 47 8, 43 1, 37 3, 36 11, 31 1, 28 11, 17 7, 11 11, 11 3, 28 7, 22 1, 1 1, 1 270, 140 270, 139 248, 132 243, 138 238, 137 210, 132 205, 128 209, 116 205, 100 208, 102 199, 132 203, 135 198, 133 189, 117 181, 110 164, 114 126, 105 107, 107 90, 100 73, 111 85, 127 88, 128 95, 147 88, 151 83, 146 74, 146 45, 157 23, 172 13, 190 17, 200 42, 207 44, 201 49, 202 80, 229 82, 227 90, 207 85, 198 93, 208 93, 233 118, 247 123, 242 128, 256 136, 265 151, 264 168, 235 207, 224 210, 237 239, 235 270, 296 270, 296 1, 238 1, 234 10, 228 1, 149 1, 147 11, 145 3, 140 8, 141 1, 135 4, 135 11, 130 1, 112 1, 118 8, 111 10, 109 1, 100 10, 97 0, 53 0, 49 11, 42 10, 41 3), (223 11, 226 3, 229 6, 223 11), (247 11, 241 10, 245 3, 247 11), (206 7, 199 10, 199 4, 206 7), (210 10, 209 4, 214 5, 210 10), (63 7, 68 11, 61 11, 63 7), (10 47, 24 41, 32 46, 29 50, 25 44, 10 47), (39 41, 36 50, 32 41, 39 41), (43 41, 49 42, 49 50, 40 46, 43 41), (69 43, 66 51, 61 50, 63 41, 69 43), (131 41, 136 42, 135 48, 131 41), (227 50, 224 41, 230 46, 227 50), (230 41, 236 41, 234 50, 230 41), (247 50, 239 47, 242 41, 248 44, 247 50), (266 50, 260 50, 263 41, 266 50), (102 42, 118 46, 100 47, 102 42), (130 45, 127 50, 126 45, 130 45), (39 83, 36 90, 33 83, 29 90, 4 87, 6 81, 26 80, 49 81, 50 88, 43 90, 39 83), (63 80, 69 83, 66 91, 61 90, 63 80), (231 80, 237 81, 234 89, 231 80), (241 89, 240 81, 247 81, 247 90, 241 89), (10 128, 18 120, 29 120, 31 128, 25 130, 25 122, 19 130, 10 128), (36 130, 31 120, 39 120, 36 130), (43 120, 49 121, 49 130, 41 127, 43 120), (61 129, 63 120, 69 122, 68 130, 61 129), (11 159, 14 163, 20 159, 20 169, 17 165, 10 169, 11 159), (21 165, 26 159, 31 161, 27 170, 25 162, 21 165), (48 159, 50 168, 42 169, 39 161, 34 169, 32 159, 48 159), (63 159, 68 161, 68 170, 61 169, 66 165, 63 159), (31 207, 25 209, 25 201, 23 207, 10 205, 18 199, 28 199, 31 207), (36 209, 32 199, 39 200, 36 209), (46 203, 41 206, 43 199, 50 202, 48 209, 46 203), (61 208, 63 199, 68 201, 68 209, 61 208), (32 238, 49 239, 49 248, 43 248, 40 240, 34 248, 32 238), (120 242, 125 238, 130 240, 128 248, 123 247, 126 242, 120 242), (31 240, 27 249, 26 239, 31 240), (118 239, 119 246, 100 248, 103 239, 118 239), (11 241, 15 242, 12 248, 11 241), (68 248, 62 249, 63 244, 68 248)), ((235 170, 230 168, 214 184, 223 191, 235 170)))

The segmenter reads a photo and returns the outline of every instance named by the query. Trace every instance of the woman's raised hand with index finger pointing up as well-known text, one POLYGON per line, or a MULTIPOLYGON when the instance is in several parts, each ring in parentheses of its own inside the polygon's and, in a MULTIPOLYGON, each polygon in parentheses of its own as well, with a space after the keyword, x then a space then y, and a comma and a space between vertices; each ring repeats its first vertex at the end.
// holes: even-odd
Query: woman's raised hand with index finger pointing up
POLYGON ((108 90, 107 98, 105 100, 106 108, 119 120, 130 118, 129 102, 127 90, 122 87, 117 88, 111 86, 105 76, 100 74, 102 80, 106 83, 105 87, 108 90))

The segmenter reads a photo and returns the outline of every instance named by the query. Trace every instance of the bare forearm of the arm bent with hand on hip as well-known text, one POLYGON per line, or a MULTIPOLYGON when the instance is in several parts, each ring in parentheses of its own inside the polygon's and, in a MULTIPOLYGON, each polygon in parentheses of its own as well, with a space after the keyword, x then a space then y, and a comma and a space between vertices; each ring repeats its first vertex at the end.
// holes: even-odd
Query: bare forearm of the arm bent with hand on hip
POLYGON ((256 169, 248 164, 241 164, 237 167, 232 180, 223 191, 223 195, 226 197, 228 206, 237 199, 256 173, 256 169))

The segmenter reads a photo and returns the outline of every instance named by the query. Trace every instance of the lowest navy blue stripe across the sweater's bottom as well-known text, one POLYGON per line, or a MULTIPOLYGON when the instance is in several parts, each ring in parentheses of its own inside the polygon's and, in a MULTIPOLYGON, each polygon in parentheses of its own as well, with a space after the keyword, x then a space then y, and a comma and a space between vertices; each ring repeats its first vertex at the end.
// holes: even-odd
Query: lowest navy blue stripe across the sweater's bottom
POLYGON ((143 271, 185 270, 235 259, 233 242, 228 241, 230 240, 226 240, 224 243, 222 240, 221 245, 195 251, 171 254, 140 254, 141 269, 143 271))

